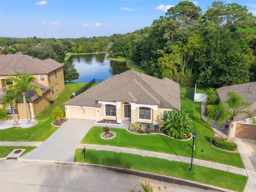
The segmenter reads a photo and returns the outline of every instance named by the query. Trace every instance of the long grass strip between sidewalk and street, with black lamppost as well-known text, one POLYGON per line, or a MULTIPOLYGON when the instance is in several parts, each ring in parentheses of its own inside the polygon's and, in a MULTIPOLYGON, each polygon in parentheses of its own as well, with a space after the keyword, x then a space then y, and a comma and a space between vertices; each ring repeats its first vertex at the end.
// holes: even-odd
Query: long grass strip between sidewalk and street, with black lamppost
POLYGON ((225 171, 194 165, 194 172, 189 172, 189 164, 168 161, 154 157, 115 153, 110 151, 86 150, 83 158, 82 149, 76 149, 75 162, 124 167, 126 169, 157 173, 171 177, 206 183, 235 191, 243 191, 247 177, 225 171))

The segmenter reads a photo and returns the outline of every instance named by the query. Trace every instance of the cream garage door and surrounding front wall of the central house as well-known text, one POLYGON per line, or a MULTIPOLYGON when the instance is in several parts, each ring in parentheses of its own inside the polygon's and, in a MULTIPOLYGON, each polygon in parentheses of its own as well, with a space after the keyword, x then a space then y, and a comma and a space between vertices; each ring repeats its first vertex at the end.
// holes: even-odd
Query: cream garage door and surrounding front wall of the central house
POLYGON ((83 113, 82 107, 65 106, 67 118, 68 118, 68 108, 69 108, 70 118, 82 118, 82 119, 92 119, 92 120, 96 120, 97 118, 96 116, 97 109, 95 108, 83 108, 85 111, 85 113, 83 113))

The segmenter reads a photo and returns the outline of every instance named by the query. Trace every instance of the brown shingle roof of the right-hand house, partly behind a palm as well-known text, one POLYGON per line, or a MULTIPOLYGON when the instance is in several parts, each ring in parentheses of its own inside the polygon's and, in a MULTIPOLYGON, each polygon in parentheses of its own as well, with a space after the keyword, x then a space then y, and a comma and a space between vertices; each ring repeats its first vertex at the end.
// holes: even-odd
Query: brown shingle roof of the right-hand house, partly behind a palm
MULTIPOLYGON (((221 101, 228 99, 229 91, 234 91, 238 95, 241 95, 246 101, 250 102, 251 105, 248 109, 256 114, 256 82, 220 87, 217 89, 217 92, 221 101)), ((245 118, 247 118, 246 115, 239 115, 235 120, 242 120, 245 118)))

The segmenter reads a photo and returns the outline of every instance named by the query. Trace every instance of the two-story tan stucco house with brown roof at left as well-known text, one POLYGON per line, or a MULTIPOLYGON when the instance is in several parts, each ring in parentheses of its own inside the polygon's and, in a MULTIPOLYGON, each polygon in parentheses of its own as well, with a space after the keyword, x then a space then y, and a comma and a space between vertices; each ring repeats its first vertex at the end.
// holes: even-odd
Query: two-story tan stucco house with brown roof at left
MULTIPOLYGON (((16 76, 18 71, 22 74, 32 74, 36 78, 35 85, 43 93, 42 97, 39 97, 34 91, 27 92, 27 97, 31 100, 31 102, 27 103, 27 109, 29 118, 33 119, 65 87, 63 65, 52 59, 41 60, 29 55, 0 55, 0 98, 5 95, 6 85, 12 83, 7 82, 6 78, 16 76)), ((0 108, 3 108, 3 103, 0 103, 0 108)), ((22 101, 18 101, 14 109, 18 119, 26 118, 22 101)), ((6 106, 6 111, 12 118, 12 111, 9 106, 6 106)))

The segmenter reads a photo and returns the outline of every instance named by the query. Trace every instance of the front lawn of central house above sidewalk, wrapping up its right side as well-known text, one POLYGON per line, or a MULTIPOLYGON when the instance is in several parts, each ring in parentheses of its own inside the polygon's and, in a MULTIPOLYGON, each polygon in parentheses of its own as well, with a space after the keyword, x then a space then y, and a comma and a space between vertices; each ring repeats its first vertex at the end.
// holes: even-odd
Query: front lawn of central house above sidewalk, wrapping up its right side
MULTIPOLYGON (((181 103, 187 112, 190 113, 194 122, 193 131, 197 133, 194 157, 244 168, 240 154, 229 153, 212 147, 210 139, 213 137, 214 132, 211 130, 209 124, 201 118, 201 103, 188 100, 182 100, 181 103)), ((81 142, 137 148, 187 157, 191 156, 192 140, 178 141, 165 137, 164 135, 135 135, 124 129, 110 128, 110 130, 116 133, 114 139, 101 139, 102 127, 95 126, 90 129, 81 142)))

